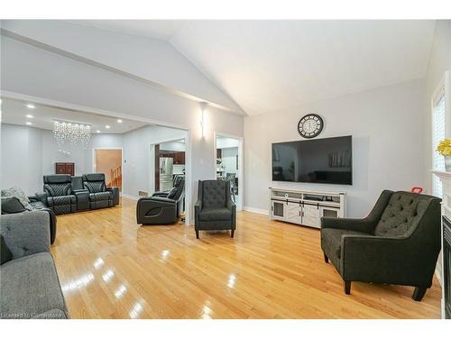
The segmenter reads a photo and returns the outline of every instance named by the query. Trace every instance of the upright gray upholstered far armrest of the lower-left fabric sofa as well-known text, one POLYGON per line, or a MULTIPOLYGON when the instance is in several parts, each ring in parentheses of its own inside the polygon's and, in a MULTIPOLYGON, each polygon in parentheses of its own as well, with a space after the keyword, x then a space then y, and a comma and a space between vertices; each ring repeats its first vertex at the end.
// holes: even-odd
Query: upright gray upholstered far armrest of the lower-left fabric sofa
POLYGON ((13 259, 51 251, 50 215, 47 211, 2 215, 0 233, 13 259))

